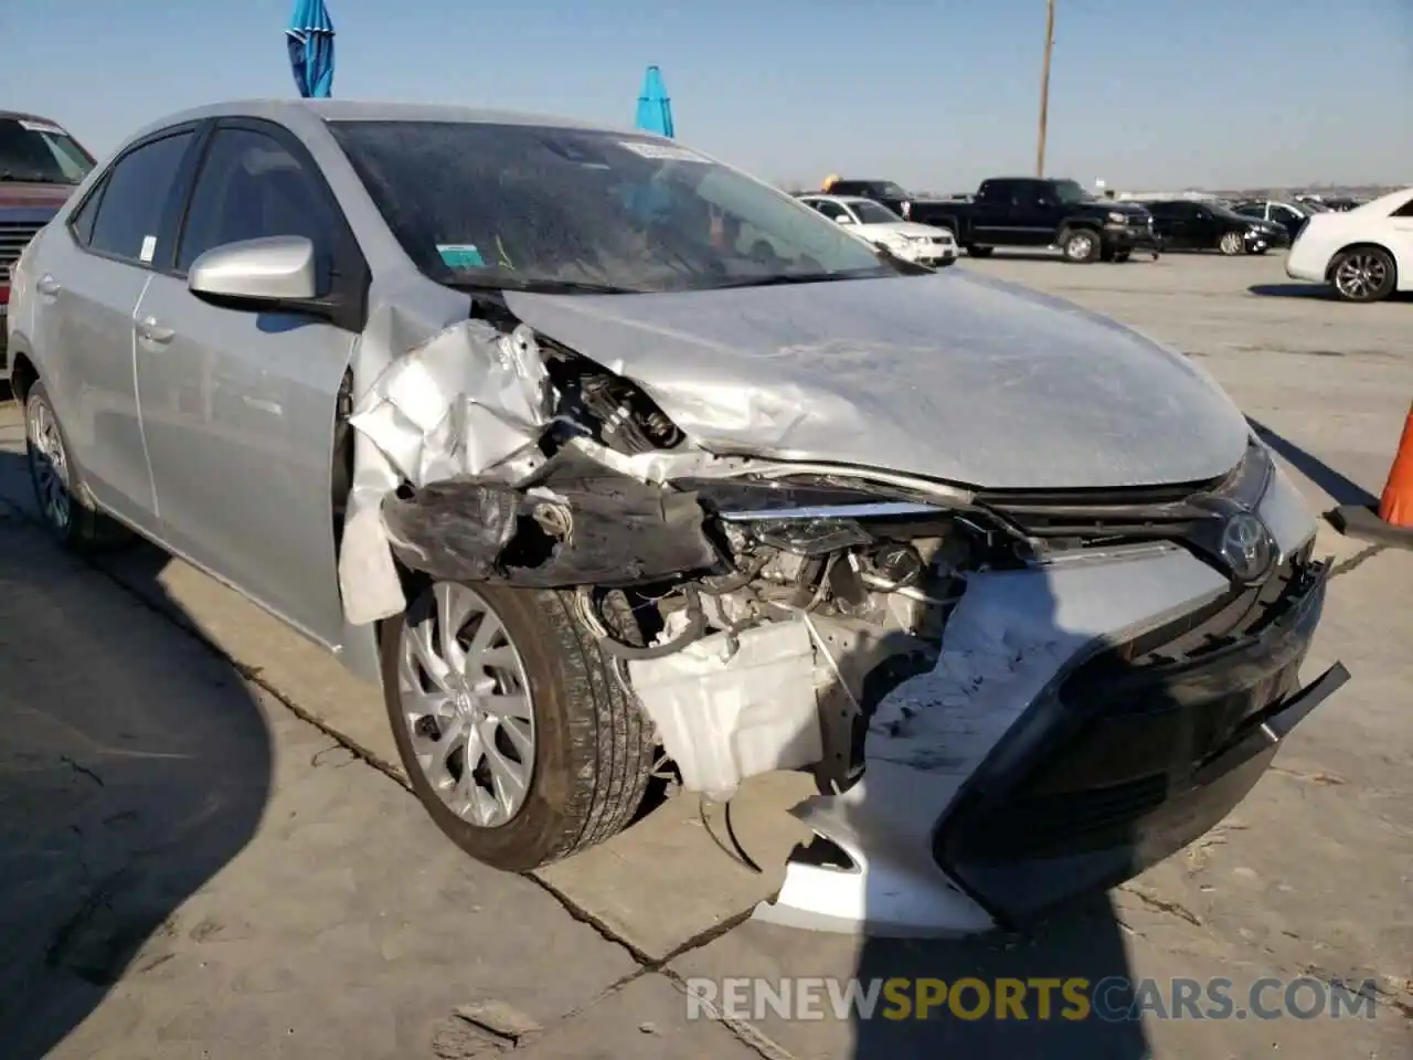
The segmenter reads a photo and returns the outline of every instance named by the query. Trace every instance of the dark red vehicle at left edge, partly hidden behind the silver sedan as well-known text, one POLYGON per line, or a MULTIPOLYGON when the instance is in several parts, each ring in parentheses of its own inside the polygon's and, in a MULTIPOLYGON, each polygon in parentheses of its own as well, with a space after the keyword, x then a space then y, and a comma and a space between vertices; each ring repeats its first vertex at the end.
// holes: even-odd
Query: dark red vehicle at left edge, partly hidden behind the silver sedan
POLYGON ((47 117, 0 110, 0 372, 10 267, 93 168, 93 155, 47 117))

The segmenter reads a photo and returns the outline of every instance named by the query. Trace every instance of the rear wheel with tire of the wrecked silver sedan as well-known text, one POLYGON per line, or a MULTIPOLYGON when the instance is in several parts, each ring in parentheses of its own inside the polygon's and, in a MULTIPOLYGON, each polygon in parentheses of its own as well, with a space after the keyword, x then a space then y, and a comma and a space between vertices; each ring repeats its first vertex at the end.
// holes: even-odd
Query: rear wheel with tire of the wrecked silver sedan
POLYGON ((45 529, 61 546, 90 553, 126 544, 131 531, 88 499, 83 476, 44 383, 35 380, 24 399, 24 449, 30 483, 45 529))

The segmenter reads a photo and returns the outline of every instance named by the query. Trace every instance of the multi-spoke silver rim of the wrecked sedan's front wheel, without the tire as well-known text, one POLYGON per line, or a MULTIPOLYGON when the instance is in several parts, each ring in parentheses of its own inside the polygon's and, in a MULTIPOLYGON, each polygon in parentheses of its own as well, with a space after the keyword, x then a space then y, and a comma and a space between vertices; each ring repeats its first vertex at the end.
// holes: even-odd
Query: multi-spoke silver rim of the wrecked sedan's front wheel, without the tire
POLYGON ((437 582, 408 609, 397 684, 417 766, 468 824, 496 828, 524 806, 536 724, 520 652, 486 599, 437 582))

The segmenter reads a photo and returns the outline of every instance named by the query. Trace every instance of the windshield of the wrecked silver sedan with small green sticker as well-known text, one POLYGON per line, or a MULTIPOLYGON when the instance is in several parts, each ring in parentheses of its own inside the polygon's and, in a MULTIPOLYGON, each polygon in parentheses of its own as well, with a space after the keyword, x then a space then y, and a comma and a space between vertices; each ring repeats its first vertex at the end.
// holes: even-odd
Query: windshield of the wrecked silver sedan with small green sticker
POLYGON ((688 291, 899 271, 788 195, 657 139, 463 122, 329 129, 408 256, 442 283, 688 291))

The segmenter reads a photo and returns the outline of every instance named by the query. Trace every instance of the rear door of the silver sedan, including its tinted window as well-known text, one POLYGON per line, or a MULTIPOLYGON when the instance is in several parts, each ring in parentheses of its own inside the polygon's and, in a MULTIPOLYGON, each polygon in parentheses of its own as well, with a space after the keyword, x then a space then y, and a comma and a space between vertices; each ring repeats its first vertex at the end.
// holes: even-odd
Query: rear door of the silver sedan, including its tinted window
POLYGON ((175 229, 198 127, 133 146, 37 247, 35 343, 73 459, 97 502, 151 531, 155 499, 133 382, 137 304, 175 229))

